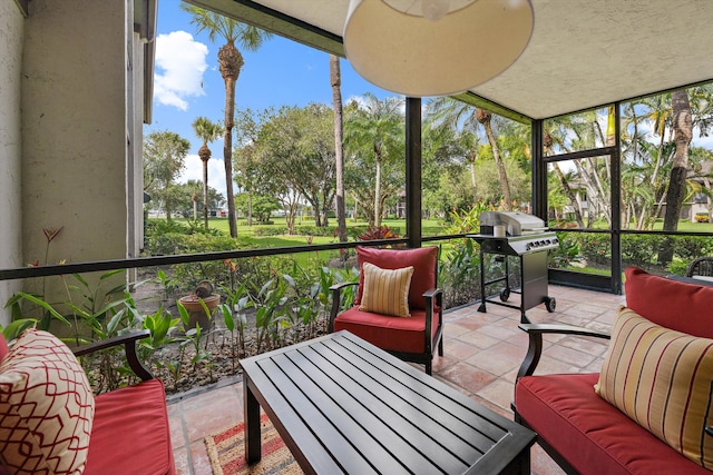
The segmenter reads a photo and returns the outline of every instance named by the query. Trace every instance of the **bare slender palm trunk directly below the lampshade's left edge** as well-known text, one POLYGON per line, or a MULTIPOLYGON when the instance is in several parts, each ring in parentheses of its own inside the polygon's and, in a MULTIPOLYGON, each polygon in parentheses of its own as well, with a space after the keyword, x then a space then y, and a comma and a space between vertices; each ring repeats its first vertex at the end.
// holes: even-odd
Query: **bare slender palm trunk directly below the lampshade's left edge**
POLYGON ((344 205, 344 119, 342 110, 342 73, 339 57, 330 55, 330 82, 334 107, 334 161, 336 178, 336 234, 346 243, 346 209, 344 205))

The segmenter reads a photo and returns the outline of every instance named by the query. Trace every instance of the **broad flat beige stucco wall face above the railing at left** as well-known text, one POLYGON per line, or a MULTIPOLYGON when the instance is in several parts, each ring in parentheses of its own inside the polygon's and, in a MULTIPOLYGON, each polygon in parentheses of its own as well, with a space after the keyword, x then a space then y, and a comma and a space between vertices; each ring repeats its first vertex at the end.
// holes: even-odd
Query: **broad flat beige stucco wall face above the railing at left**
POLYGON ((42 229, 59 227, 49 263, 126 257, 125 8, 30 2, 22 65, 26 263, 45 264, 42 229))

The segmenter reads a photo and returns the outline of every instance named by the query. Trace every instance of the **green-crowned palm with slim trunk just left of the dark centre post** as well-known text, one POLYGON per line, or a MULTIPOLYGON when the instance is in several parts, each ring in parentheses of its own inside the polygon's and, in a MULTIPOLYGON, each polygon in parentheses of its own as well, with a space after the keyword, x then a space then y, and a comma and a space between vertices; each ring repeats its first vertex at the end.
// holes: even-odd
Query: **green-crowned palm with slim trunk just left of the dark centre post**
POLYGON ((391 97, 383 101, 371 92, 364 95, 365 103, 352 110, 346 121, 346 140, 355 149, 373 152, 375 164, 374 180, 374 226, 381 226, 382 167, 384 161, 403 154, 404 119, 401 115, 403 100, 391 97))

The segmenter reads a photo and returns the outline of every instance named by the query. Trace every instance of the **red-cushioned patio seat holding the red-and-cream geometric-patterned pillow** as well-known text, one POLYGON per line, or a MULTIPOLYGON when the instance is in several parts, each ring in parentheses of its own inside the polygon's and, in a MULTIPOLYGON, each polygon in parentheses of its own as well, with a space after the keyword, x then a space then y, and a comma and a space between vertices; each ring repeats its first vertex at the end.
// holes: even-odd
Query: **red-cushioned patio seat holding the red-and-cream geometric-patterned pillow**
POLYGON ((164 386, 136 356, 147 336, 72 353, 47 331, 28 329, 11 348, 0 334, 0 475, 174 474, 164 386), (116 345, 140 382, 94 396, 77 356, 116 345))

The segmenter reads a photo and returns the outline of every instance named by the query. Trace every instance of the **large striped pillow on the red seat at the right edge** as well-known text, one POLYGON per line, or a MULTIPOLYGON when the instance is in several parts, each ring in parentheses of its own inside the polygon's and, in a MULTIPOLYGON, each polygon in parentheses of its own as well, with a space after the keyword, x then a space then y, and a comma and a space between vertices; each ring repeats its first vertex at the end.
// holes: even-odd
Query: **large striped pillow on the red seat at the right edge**
POLYGON ((713 425, 713 339, 621 307, 594 388, 685 457, 713 468, 713 437, 704 432, 713 425))

